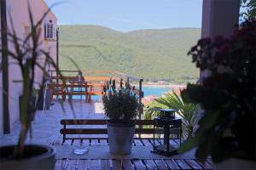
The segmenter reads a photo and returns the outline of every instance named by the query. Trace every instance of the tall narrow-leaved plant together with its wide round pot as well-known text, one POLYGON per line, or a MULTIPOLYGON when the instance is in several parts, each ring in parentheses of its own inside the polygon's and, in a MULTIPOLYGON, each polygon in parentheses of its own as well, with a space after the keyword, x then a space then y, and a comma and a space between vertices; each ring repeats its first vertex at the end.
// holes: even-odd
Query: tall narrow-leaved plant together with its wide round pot
MULTIPOLYGON (((36 110, 35 105, 32 105, 35 71, 40 69, 44 77, 49 77, 47 72, 49 65, 58 71, 49 53, 39 48, 40 29, 38 27, 42 25, 48 13, 49 10, 35 23, 29 8, 31 32, 24 40, 15 33, 12 20, 10 20, 11 31, 3 32, 8 35, 9 43, 14 45, 14 49, 1 48, 0 51, 7 54, 13 63, 19 66, 22 79, 17 82, 22 83, 23 90, 20 96, 20 136, 16 145, 0 147, 1 169, 54 169, 55 166, 55 150, 52 147, 43 144, 25 144, 27 133, 32 132, 32 117, 36 110)), ((61 72, 58 71, 58 73, 61 75, 61 72)))

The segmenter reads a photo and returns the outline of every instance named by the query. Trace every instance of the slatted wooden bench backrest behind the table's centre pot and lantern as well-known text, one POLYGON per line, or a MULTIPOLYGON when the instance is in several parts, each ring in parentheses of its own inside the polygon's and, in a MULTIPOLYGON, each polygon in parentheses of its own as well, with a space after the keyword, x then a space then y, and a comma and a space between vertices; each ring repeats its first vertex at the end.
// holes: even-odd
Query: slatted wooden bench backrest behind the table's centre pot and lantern
MULTIPOLYGON (((108 129, 107 129, 107 121, 102 119, 62 119, 60 133, 62 134, 62 143, 67 139, 106 139, 108 142, 108 129), (78 127, 78 126, 89 126, 89 127, 78 127), (67 135, 88 135, 86 137, 74 137, 67 135), (102 135, 102 136, 96 136, 102 135)), ((134 139, 144 140, 153 139, 154 134, 154 120, 137 120, 135 129, 135 137, 134 139)), ((181 144, 181 136, 182 130, 181 128, 170 129, 172 134, 172 139, 177 139, 177 143, 181 144)), ((163 134, 164 130, 158 130, 157 133, 163 134)))

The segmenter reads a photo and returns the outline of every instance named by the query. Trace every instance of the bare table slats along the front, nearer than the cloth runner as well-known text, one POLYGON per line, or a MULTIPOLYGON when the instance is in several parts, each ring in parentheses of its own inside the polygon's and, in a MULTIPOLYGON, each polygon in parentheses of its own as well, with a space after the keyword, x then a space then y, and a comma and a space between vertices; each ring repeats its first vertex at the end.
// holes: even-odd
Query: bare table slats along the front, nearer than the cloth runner
POLYGON ((183 159, 133 159, 133 160, 73 160, 73 159, 63 159, 57 160, 55 163, 55 170, 64 169, 212 169, 211 161, 207 161, 203 166, 198 161, 195 160, 183 160, 183 159))

